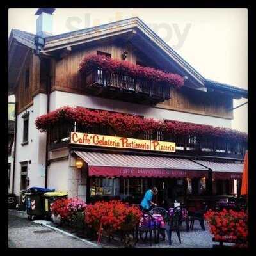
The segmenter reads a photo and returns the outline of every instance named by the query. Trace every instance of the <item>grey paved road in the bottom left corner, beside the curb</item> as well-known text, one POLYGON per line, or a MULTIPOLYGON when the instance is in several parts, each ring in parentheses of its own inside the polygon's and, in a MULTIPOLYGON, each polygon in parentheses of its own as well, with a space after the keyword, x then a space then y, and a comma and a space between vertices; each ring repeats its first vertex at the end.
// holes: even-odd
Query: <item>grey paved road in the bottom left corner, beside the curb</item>
POLYGON ((90 242, 86 243, 10 214, 8 245, 10 248, 96 248, 90 242))

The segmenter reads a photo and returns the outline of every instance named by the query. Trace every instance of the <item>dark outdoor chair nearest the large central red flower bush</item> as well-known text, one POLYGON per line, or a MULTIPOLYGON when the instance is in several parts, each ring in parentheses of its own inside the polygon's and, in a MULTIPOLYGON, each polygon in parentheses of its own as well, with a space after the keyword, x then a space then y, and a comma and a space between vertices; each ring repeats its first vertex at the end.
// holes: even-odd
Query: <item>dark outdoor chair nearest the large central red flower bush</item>
POLYGON ((143 240, 143 235, 145 234, 145 241, 147 241, 147 236, 149 234, 150 246, 152 246, 152 235, 154 233, 154 241, 156 243, 156 221, 151 214, 144 213, 141 216, 140 223, 136 226, 136 242, 138 243, 138 234, 140 239, 143 240))

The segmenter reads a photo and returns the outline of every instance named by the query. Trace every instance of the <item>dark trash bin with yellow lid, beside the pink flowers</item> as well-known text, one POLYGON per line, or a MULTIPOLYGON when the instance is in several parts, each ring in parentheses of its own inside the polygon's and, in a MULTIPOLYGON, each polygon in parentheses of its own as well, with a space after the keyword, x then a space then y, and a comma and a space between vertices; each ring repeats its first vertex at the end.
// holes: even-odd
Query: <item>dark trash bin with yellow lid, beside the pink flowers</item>
POLYGON ((52 204, 56 199, 67 198, 68 194, 63 192, 47 192, 43 195, 44 204, 44 216, 47 219, 51 219, 52 216, 52 204))

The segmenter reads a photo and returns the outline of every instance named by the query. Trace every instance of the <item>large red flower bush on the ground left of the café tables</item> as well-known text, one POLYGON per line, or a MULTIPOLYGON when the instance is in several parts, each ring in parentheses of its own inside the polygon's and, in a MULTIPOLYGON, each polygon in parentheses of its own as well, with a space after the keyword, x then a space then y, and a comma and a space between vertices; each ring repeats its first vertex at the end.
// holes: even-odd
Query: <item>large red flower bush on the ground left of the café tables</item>
POLYGON ((85 213, 85 222, 94 230, 102 228, 108 234, 117 230, 134 228, 140 221, 142 212, 135 205, 124 204, 120 200, 110 202, 96 202, 88 205, 85 213))

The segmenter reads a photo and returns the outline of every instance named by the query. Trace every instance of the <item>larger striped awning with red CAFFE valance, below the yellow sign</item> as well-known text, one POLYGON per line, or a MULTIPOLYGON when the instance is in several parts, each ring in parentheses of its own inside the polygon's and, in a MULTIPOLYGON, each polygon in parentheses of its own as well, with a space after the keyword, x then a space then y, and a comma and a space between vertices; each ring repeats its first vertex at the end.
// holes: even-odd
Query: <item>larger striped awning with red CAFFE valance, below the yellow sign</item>
POLYGON ((87 164, 90 176, 207 177, 208 169, 188 159, 74 151, 87 164))

